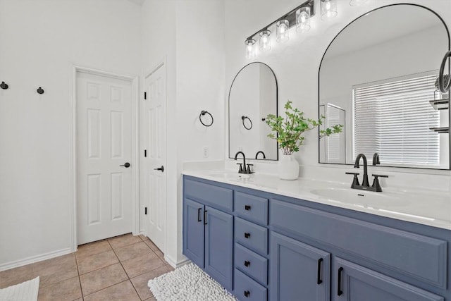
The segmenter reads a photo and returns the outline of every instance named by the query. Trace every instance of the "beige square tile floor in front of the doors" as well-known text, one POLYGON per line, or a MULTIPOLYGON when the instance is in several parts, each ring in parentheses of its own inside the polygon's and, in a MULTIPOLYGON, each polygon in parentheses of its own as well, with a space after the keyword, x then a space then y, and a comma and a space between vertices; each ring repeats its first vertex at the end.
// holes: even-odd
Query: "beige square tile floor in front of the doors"
POLYGON ((173 271, 142 235, 80 245, 75 253, 0 272, 0 288, 39 276, 39 301, 155 300, 147 281, 173 271))

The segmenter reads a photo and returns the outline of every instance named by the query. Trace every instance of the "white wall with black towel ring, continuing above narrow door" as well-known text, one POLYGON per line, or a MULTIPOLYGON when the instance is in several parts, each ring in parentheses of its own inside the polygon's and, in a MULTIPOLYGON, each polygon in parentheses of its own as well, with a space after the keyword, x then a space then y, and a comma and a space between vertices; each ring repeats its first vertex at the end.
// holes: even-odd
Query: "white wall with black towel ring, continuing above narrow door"
POLYGON ((168 67, 168 237, 164 251, 171 264, 178 264, 185 259, 182 163, 224 158, 223 0, 147 0, 141 20, 142 75, 164 57, 168 67), (209 128, 199 122, 202 110, 214 117, 209 128), (208 158, 204 158, 204 147, 209 149, 208 158))

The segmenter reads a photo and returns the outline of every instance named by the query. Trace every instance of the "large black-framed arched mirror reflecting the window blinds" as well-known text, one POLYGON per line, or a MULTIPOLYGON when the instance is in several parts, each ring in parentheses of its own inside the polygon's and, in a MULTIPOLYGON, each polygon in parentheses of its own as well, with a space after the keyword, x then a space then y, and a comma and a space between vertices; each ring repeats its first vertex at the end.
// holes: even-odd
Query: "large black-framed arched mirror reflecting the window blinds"
POLYGON ((449 49, 443 20, 419 5, 384 6, 347 25, 319 69, 323 126, 345 125, 320 140, 319 162, 378 153, 381 166, 449 169, 450 97, 435 87, 449 49))

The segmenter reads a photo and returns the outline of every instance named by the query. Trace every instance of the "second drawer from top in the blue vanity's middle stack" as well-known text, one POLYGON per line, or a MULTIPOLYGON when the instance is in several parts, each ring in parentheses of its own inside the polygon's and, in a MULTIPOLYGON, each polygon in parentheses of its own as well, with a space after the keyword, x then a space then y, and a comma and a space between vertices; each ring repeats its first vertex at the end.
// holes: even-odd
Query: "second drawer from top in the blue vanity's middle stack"
POLYGON ((235 242, 260 254, 268 254, 268 229, 255 223, 235 218, 235 242))

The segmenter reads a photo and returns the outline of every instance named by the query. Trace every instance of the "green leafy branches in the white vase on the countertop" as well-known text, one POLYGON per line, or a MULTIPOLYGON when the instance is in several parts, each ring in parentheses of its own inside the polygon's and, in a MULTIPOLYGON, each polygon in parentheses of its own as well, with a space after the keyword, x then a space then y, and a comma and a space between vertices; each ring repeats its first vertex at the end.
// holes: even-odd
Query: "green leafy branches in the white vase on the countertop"
MULTIPOLYGON (((273 114, 266 116, 266 124, 276 133, 268 134, 271 139, 277 140, 279 148, 283 154, 292 154, 299 151, 299 147, 304 142, 302 134, 307 130, 313 130, 323 124, 324 116, 319 120, 304 117, 304 112, 299 109, 293 109, 292 102, 288 100, 285 104, 285 119, 281 116, 276 117, 273 114), (278 135, 276 135, 278 134, 278 135)), ((319 131, 319 138, 330 136, 342 131, 343 125, 334 125, 332 128, 319 131)))

